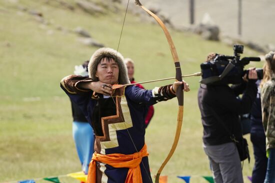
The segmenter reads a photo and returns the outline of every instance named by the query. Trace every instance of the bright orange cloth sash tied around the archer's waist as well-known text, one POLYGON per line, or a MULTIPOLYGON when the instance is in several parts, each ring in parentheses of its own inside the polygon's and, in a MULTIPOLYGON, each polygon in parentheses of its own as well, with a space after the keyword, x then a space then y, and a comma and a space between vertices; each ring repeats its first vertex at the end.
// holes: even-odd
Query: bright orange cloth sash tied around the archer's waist
POLYGON ((92 154, 91 161, 89 163, 87 183, 96 183, 96 163, 95 161, 100 161, 111 165, 116 168, 127 167, 129 168, 125 183, 142 183, 140 162, 142 157, 148 156, 147 146, 144 144, 139 152, 133 154, 99 154, 94 152, 92 154))

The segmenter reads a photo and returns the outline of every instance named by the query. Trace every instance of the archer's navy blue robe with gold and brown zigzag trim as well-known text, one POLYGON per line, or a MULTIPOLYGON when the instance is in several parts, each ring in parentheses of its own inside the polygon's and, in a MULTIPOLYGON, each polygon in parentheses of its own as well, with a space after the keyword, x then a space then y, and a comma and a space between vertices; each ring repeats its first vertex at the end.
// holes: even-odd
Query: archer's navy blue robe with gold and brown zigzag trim
MULTIPOLYGON (((95 133, 94 151, 100 154, 132 154, 144 145, 145 115, 149 105, 175 96, 171 85, 152 90, 131 85, 115 89, 112 96, 79 88, 88 77, 69 75, 61 80, 61 88, 83 111, 95 133)), ((96 182, 121 183, 128 168, 115 168, 96 162, 96 182)), ((152 182, 148 157, 140 163, 142 182, 152 182)))

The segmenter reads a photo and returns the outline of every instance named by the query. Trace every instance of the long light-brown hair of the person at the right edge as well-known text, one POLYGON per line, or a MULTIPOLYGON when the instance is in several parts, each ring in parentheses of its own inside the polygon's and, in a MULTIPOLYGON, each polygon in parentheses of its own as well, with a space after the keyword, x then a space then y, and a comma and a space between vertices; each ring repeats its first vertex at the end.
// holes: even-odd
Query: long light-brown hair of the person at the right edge
POLYGON ((271 79, 273 73, 275 73, 275 57, 274 52, 270 51, 268 54, 265 55, 265 63, 263 65, 263 77, 260 82, 260 87, 262 87, 265 82, 271 79))

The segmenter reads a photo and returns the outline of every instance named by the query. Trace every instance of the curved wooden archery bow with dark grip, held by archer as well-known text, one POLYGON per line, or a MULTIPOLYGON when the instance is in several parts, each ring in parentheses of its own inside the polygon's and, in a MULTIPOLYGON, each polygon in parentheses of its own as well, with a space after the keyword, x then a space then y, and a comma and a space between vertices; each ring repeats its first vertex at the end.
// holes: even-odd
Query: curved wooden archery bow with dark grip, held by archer
MULTIPOLYGON (((164 25, 164 23, 160 20, 160 18, 158 16, 156 16, 153 12, 151 12, 149 9, 144 7, 140 3, 139 0, 135 0, 135 3, 137 5, 139 5, 143 10, 145 10, 148 14, 150 14, 157 21, 157 23, 161 26, 161 28, 164 31, 164 34, 167 38, 167 41, 168 41, 168 44, 169 44, 169 47, 170 47, 170 51, 171 51, 171 54, 172 54, 172 57, 173 57, 173 61, 174 61, 174 64, 175 64, 175 72, 176 72, 175 79, 177 81, 182 81, 180 63, 179 63, 179 60, 178 60, 177 52, 176 52, 174 43, 172 41, 172 38, 170 36, 170 33, 168 32, 166 26, 164 25)), ((159 169, 156 173, 156 176, 155 176, 155 182, 156 183, 159 182, 160 173, 161 173, 162 169, 164 168, 164 166, 166 165, 166 163, 171 158, 171 156, 173 155, 173 153, 175 151, 175 148, 177 146, 178 139, 179 139, 181 125, 182 125, 182 119, 183 119, 183 91, 182 91, 182 85, 180 85, 177 88, 176 97, 177 97, 177 100, 178 100, 178 112, 177 112, 177 124, 176 124, 176 132, 175 132, 175 136, 174 136, 174 141, 173 141, 172 147, 171 147, 167 157, 162 162, 161 166, 159 167, 159 169)))

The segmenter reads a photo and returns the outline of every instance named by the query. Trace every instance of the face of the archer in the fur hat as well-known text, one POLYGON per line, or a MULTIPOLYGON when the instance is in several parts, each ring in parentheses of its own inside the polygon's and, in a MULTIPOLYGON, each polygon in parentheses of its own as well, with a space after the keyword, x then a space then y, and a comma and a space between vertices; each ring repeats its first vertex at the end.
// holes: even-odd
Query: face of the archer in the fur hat
POLYGON ((98 80, 108 84, 118 83, 119 68, 112 58, 103 58, 97 65, 95 76, 98 80))

